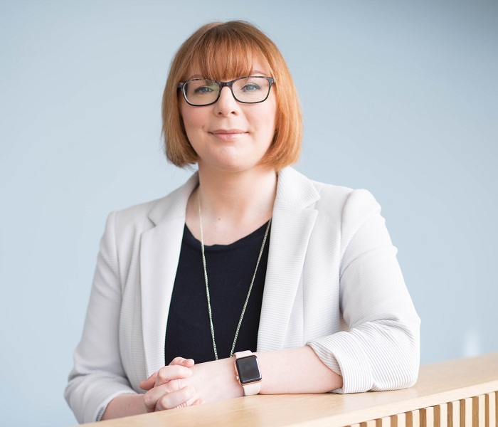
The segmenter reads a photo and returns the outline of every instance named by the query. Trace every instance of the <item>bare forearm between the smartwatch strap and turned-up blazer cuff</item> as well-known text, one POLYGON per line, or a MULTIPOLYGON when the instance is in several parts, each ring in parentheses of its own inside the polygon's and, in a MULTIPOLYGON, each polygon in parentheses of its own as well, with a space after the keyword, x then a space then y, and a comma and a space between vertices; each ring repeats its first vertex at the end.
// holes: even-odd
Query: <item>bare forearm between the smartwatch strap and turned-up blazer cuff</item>
POLYGON ((256 354, 263 376, 261 394, 325 393, 342 386, 342 377, 309 346, 256 354))

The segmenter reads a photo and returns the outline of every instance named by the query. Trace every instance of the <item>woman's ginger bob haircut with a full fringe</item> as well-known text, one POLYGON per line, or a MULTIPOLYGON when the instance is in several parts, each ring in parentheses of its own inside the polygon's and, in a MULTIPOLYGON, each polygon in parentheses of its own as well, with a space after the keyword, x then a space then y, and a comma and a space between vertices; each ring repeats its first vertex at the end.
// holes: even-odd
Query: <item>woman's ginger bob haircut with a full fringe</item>
MULTIPOLYGON (((201 26, 179 48, 169 69, 162 98, 162 135, 169 162, 179 167, 195 164, 198 156, 186 137, 180 115, 178 85, 195 71, 204 78, 228 80, 250 75, 253 58, 266 63, 275 83, 275 136, 260 164, 276 171, 297 162, 301 151, 300 103, 289 68, 275 43, 245 21, 212 22, 201 26)), ((201 107, 192 107, 201 108, 201 107)))

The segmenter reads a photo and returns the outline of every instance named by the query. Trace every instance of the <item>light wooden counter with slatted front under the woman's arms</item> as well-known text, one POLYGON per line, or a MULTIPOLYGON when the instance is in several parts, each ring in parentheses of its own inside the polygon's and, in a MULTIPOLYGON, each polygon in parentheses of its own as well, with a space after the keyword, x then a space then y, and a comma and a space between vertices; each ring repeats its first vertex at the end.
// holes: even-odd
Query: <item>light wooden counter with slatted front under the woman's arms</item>
POLYGON ((498 427, 498 353, 425 365, 411 389, 249 396, 93 427, 498 427))

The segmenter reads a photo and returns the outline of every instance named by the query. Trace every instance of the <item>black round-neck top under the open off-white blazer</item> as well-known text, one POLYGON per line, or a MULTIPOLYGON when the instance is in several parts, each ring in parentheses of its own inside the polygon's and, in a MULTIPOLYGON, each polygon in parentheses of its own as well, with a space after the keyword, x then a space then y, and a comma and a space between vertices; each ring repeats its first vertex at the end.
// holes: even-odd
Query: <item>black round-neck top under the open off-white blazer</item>
MULTIPOLYGON (((204 246, 209 295, 218 358, 230 357, 240 314, 253 279, 267 223, 231 245, 204 246)), ((248 306, 240 325, 235 352, 256 351, 261 302, 265 288, 268 233, 248 306)), ((164 362, 174 357, 196 363, 214 360, 201 242, 185 226, 166 326, 164 362)))

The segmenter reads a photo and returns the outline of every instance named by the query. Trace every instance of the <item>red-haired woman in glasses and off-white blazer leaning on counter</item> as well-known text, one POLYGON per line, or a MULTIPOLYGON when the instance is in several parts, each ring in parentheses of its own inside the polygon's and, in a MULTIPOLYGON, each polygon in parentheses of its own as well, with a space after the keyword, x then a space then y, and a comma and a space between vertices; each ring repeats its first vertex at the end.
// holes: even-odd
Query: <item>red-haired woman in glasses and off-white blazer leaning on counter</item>
POLYGON ((274 43, 241 21, 199 28, 163 122, 168 159, 198 173, 107 220, 65 392, 78 421, 412 385, 420 321, 380 206, 289 167, 302 122, 274 43))

